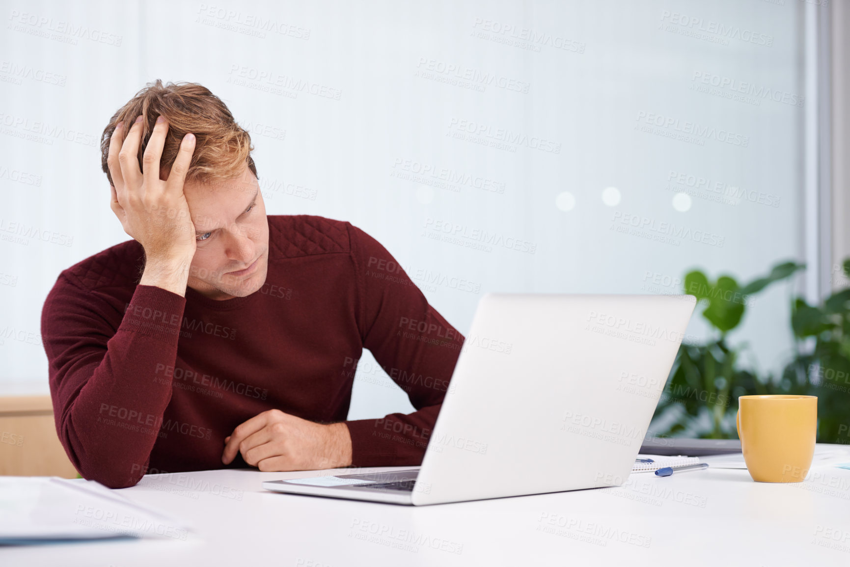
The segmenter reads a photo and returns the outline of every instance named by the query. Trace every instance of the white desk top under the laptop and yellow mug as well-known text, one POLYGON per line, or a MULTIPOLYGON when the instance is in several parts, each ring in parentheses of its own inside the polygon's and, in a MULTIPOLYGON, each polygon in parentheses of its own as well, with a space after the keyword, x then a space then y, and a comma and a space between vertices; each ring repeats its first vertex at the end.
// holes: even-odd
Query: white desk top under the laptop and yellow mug
POLYGON ((617 488, 428 507, 260 488, 263 480, 311 474, 148 475, 121 494, 189 520, 195 531, 185 540, 4 547, 0 564, 658 567, 676 557, 690 558, 683 565, 850 564, 850 470, 841 468, 816 468, 787 485, 755 483, 745 470, 642 473, 617 488))

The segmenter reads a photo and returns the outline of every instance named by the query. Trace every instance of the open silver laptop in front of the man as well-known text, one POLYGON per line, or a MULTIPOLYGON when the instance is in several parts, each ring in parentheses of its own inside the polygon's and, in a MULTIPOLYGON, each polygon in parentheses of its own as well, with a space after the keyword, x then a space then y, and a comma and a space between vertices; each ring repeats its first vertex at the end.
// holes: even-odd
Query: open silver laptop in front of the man
POLYGON ((621 485, 695 304, 690 295, 487 293, 422 466, 263 488, 423 506, 621 485))

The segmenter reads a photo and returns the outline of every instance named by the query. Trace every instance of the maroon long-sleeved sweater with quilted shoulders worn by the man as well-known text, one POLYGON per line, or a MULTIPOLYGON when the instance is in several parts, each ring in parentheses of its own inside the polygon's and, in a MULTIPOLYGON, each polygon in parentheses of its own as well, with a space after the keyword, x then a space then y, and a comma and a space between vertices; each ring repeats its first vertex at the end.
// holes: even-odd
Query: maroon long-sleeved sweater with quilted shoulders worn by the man
POLYGON ((143 258, 126 241, 82 260, 42 310, 56 430, 84 478, 224 468, 224 438, 272 408, 343 422, 364 348, 417 411, 346 421, 352 464, 422 462, 463 337, 371 236, 269 216, 265 284, 224 301, 138 285, 143 258))

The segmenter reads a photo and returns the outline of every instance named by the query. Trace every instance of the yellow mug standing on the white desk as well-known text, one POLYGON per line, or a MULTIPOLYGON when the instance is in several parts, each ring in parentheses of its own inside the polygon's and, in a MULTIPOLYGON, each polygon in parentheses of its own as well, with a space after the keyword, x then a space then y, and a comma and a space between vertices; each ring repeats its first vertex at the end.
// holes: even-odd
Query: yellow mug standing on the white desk
POLYGON ((740 396, 738 408, 738 437, 752 479, 802 482, 814 456, 818 396, 740 396))

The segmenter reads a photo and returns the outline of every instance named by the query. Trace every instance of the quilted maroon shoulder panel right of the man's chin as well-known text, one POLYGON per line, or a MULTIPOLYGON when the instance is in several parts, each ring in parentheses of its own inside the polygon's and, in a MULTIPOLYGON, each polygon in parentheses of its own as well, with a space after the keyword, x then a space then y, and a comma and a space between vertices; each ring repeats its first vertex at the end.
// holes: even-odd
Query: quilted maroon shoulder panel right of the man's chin
POLYGON ((282 258, 351 250, 346 223, 314 215, 269 215, 269 248, 282 258))

